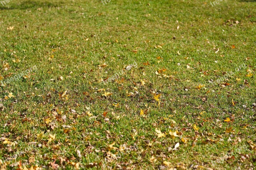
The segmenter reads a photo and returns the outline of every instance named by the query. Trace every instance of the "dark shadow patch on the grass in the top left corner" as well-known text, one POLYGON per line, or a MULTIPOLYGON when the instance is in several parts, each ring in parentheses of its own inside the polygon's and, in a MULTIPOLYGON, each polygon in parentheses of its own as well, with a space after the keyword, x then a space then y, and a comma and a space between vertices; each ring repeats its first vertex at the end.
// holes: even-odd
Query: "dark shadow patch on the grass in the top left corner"
POLYGON ((8 3, 5 1, 5 4, 6 5, 4 5, 4 6, 2 4, 0 4, 0 10, 14 10, 14 9, 26 10, 26 9, 32 9, 32 8, 37 9, 40 7, 50 8, 50 7, 58 7, 60 4, 63 4, 63 3, 62 2, 53 3, 53 1, 52 2, 48 2, 48 1, 38 2, 38 1, 27 0, 27 1, 23 1, 23 2, 18 2, 16 4, 12 3, 10 5, 8 5, 8 3))

